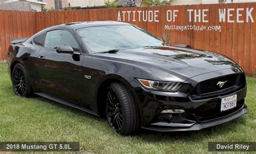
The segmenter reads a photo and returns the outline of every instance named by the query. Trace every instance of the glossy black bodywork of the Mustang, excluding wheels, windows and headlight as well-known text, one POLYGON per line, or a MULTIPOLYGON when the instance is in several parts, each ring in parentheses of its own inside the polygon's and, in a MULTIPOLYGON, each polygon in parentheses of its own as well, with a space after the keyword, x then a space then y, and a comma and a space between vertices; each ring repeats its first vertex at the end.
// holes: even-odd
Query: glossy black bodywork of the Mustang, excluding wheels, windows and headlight
POLYGON ((175 46, 92 54, 76 31, 105 25, 129 24, 71 23, 45 29, 23 43, 16 40, 8 51, 9 73, 20 63, 28 72, 35 94, 95 115, 104 113, 102 95, 107 85, 123 83, 138 106, 141 127, 156 131, 200 130, 248 112, 245 74, 232 60, 213 52, 175 46), (63 54, 35 42, 34 38, 53 30, 70 32, 79 50, 63 54), (184 85, 177 92, 161 92, 143 87, 137 79, 184 85), (224 80, 228 80, 226 86, 219 88, 218 81, 224 80), (237 94, 237 107, 220 111, 221 99, 234 94, 237 94), (166 109, 185 112, 161 113, 166 109))

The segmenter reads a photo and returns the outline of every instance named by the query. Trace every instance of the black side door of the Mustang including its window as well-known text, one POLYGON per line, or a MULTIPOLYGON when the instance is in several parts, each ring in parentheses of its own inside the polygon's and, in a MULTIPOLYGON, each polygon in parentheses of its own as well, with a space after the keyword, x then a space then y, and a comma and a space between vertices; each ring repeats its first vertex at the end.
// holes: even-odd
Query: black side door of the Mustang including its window
POLYGON ((77 40, 66 30, 46 33, 45 43, 37 54, 40 89, 44 93, 70 101, 83 102, 83 53, 57 53, 60 45, 70 45, 80 52, 77 40))

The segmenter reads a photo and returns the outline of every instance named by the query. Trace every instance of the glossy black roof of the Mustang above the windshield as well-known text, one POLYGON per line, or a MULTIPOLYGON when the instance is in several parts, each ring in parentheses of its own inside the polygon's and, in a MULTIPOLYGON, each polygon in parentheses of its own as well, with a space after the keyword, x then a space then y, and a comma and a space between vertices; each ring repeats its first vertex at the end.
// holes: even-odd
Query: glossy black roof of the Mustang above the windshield
POLYGON ((82 29, 85 27, 93 27, 93 26, 107 26, 107 25, 131 25, 122 22, 114 22, 114 21, 104 21, 104 22, 74 22, 63 24, 64 26, 71 26, 75 29, 82 29))

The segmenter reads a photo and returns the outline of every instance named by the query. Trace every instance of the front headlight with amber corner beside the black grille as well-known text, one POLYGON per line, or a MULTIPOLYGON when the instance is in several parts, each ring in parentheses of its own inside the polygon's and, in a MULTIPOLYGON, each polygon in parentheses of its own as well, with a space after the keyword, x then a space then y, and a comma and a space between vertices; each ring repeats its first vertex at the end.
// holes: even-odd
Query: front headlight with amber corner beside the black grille
POLYGON ((176 92, 179 90, 181 86, 183 86, 183 83, 181 82, 161 82, 161 81, 150 81, 150 80, 143 80, 143 79, 137 79, 139 83, 151 90, 159 90, 164 92, 176 92))

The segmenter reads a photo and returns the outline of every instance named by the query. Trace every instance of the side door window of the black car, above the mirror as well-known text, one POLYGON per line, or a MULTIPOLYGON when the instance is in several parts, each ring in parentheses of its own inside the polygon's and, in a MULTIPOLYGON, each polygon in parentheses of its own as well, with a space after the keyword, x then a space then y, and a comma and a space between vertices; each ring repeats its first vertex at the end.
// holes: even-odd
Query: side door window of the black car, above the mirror
POLYGON ((65 30, 54 30, 46 34, 44 47, 57 48, 60 45, 70 45, 78 51, 78 44, 71 33, 65 30))

